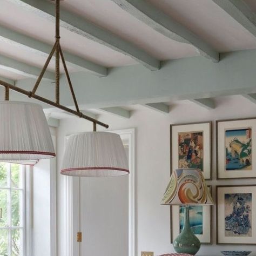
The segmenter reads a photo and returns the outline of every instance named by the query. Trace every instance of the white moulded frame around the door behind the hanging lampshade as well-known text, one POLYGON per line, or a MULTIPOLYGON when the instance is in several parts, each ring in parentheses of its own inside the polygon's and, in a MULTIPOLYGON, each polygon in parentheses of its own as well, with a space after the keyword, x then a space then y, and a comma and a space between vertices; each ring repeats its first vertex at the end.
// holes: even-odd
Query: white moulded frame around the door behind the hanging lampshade
MULTIPOLYGON (((135 256, 135 129, 110 132, 119 134, 129 143, 129 256, 135 256)), ((76 241, 76 233, 80 231, 80 178, 65 176, 64 184, 66 256, 80 256, 79 242, 76 241)))

